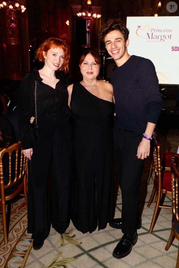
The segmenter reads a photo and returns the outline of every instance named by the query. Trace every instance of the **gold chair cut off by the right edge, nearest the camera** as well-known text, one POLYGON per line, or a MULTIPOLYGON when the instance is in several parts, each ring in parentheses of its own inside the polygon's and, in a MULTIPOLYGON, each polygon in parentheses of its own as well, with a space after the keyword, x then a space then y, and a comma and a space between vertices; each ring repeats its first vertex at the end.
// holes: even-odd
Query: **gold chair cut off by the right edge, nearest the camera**
MULTIPOLYGON (((172 173, 172 230, 170 233, 169 240, 167 242, 167 245, 165 247, 165 250, 167 251, 169 247, 171 246, 174 238, 176 237, 179 241, 179 202, 178 202, 178 186, 179 186, 179 170, 178 170, 178 156, 174 155, 171 158, 171 173, 172 173)), ((179 248, 178 248, 178 256, 177 256, 177 264, 176 268, 179 267, 179 248)))

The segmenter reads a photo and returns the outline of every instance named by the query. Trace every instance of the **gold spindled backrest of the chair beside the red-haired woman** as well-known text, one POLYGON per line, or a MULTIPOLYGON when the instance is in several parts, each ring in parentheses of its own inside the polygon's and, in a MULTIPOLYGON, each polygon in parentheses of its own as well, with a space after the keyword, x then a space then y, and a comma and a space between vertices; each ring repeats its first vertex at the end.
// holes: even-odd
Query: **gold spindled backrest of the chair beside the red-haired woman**
POLYGON ((0 198, 6 199, 6 193, 18 188, 26 175, 26 157, 20 141, 0 151, 0 198))

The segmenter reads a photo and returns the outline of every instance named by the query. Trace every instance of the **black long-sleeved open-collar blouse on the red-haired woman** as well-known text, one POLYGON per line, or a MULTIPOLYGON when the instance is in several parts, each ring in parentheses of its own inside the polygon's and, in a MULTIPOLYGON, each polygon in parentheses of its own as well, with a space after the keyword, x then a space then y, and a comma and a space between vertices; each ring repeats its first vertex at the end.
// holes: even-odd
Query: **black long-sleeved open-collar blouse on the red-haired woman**
MULTIPOLYGON (((67 79, 63 73, 56 72, 55 89, 44 84, 39 71, 35 70, 37 77, 37 122, 47 116, 65 117, 68 107, 67 79)), ((23 149, 32 148, 30 138, 30 118, 35 116, 35 76, 33 72, 28 72, 20 86, 19 100, 19 134, 23 149)), ((35 120, 34 123, 35 124, 35 120)))

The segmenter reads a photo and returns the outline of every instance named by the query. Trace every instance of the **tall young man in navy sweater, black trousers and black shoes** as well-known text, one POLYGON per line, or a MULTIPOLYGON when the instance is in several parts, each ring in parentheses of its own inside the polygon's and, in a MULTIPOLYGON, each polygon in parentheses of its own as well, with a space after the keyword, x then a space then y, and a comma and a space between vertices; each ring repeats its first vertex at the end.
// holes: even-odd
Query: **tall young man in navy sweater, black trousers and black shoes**
POLYGON ((139 187, 144 159, 162 109, 155 67, 149 59, 130 56, 129 30, 118 20, 102 26, 100 38, 117 68, 111 75, 115 99, 114 162, 122 193, 122 217, 110 226, 122 229, 122 239, 113 251, 115 258, 130 254, 137 242, 139 187))

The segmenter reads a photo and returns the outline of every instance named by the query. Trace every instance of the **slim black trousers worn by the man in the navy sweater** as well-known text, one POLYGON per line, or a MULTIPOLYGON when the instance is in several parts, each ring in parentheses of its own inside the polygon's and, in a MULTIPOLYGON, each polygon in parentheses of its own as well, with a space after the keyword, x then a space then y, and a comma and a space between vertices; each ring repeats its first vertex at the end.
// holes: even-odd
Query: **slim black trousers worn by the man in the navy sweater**
POLYGON ((139 219, 140 180, 144 160, 138 159, 141 132, 127 132, 114 127, 114 163, 122 193, 122 232, 133 235, 139 219))

